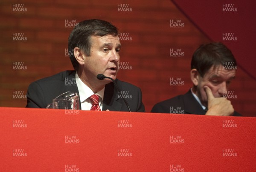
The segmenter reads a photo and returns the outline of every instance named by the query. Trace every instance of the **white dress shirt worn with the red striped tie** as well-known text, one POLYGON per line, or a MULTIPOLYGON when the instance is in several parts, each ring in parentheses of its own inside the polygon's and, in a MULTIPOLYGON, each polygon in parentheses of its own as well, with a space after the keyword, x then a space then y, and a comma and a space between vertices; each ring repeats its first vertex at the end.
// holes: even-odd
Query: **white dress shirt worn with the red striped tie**
POLYGON ((76 72, 76 84, 79 91, 79 98, 81 102, 81 110, 90 110, 92 107, 92 103, 89 99, 91 95, 98 95, 99 96, 99 107, 102 110, 103 106, 103 99, 104 99, 104 91, 105 87, 97 93, 94 93, 83 81, 79 78, 76 72))

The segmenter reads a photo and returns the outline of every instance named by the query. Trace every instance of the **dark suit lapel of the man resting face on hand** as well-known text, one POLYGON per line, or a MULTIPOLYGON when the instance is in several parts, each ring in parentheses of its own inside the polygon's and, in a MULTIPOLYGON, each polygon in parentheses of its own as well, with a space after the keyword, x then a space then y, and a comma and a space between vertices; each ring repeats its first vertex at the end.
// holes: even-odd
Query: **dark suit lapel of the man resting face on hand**
POLYGON ((187 114, 198 114, 205 115, 206 111, 198 103, 195 97, 192 95, 191 90, 184 95, 185 113, 187 114))

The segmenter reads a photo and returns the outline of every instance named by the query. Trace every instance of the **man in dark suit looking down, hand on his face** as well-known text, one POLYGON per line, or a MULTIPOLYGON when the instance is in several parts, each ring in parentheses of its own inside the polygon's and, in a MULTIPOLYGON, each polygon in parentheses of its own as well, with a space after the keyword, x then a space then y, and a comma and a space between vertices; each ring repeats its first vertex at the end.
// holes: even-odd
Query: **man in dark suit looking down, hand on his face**
POLYGON ((236 76, 235 69, 236 59, 224 44, 201 45, 192 56, 192 88, 185 95, 157 103, 151 112, 241 116, 226 98, 228 87, 236 76))

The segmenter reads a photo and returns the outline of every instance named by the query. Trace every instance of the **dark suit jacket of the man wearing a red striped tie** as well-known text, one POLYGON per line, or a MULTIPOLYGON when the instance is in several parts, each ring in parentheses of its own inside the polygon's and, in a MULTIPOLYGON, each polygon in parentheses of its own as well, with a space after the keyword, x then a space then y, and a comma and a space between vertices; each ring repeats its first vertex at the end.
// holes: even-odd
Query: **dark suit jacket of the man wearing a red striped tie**
MULTIPOLYGON (((76 81, 76 71, 64 71, 51 77, 37 80, 29 85, 27 92, 27 105, 31 108, 46 108, 56 98, 64 92, 77 92, 78 87, 75 84, 65 84, 65 81, 76 81)), ((121 91, 129 91, 129 99, 126 99, 132 112, 145 112, 142 103, 142 93, 140 88, 130 83, 122 82, 116 79, 116 84, 121 91)), ((119 96, 120 97, 120 96, 119 96)), ((127 106, 122 98, 118 97, 118 92, 113 82, 106 84, 102 110, 110 111, 128 111, 127 106)), ((81 109, 81 102, 80 102, 81 109)))

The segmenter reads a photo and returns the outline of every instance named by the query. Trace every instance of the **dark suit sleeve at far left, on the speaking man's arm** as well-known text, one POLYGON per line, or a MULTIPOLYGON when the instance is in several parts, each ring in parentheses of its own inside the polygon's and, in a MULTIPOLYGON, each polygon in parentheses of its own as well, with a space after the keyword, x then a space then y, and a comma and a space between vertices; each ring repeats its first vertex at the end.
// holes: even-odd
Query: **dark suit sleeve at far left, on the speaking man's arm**
POLYGON ((27 108, 46 108, 43 90, 40 85, 33 82, 27 91, 27 108))

